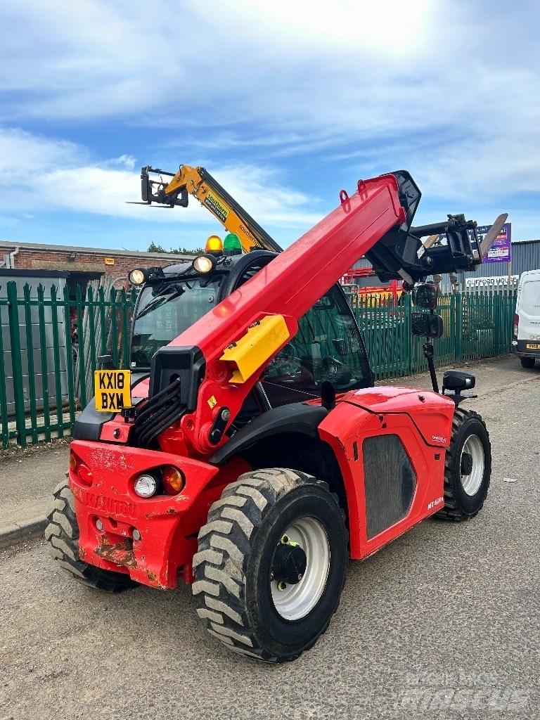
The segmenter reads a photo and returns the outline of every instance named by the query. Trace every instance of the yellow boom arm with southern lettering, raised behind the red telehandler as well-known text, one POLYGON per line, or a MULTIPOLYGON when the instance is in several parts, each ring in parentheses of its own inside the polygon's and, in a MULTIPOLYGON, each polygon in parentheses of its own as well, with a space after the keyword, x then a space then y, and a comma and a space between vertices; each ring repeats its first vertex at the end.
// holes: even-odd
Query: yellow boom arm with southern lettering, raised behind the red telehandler
POLYGON ((261 228, 204 168, 181 165, 179 171, 174 174, 145 166, 141 170, 140 178, 145 203, 157 202, 168 207, 175 205, 186 207, 188 197, 192 195, 210 210, 229 233, 238 235, 245 253, 253 248, 281 252, 282 248, 266 233, 266 230, 261 228), (166 175, 171 180, 165 182, 161 178, 151 179, 150 173, 166 175))

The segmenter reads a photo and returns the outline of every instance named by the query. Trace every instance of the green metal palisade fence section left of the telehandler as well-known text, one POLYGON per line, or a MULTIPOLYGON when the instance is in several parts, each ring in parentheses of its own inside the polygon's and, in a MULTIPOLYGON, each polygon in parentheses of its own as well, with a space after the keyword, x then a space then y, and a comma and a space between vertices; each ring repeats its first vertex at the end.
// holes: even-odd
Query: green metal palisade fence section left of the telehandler
POLYGON ((17 284, 7 282, 5 296, 0 297, 0 447, 61 438, 90 400, 98 356, 112 354, 117 367, 127 364, 135 294, 112 289, 106 296, 103 288, 94 294, 89 287, 83 295, 77 287, 70 298, 68 287, 58 294, 54 286, 32 292, 26 284, 17 292, 17 284))

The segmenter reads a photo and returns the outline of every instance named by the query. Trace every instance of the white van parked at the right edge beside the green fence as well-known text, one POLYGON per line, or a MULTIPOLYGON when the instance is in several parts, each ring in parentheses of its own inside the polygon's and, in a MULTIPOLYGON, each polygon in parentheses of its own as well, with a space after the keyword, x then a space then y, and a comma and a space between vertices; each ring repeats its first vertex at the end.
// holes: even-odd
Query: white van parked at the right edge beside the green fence
POLYGON ((519 280, 512 351, 523 367, 540 359, 540 270, 528 270, 519 280))

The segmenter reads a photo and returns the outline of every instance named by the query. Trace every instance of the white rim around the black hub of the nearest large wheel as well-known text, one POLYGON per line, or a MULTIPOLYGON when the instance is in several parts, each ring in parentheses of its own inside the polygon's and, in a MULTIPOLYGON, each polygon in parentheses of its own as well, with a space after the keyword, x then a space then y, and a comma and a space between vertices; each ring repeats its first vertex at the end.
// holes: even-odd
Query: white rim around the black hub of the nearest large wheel
POLYGON ((302 580, 278 590, 276 580, 270 589, 274 607, 285 620, 300 620, 310 613, 323 595, 330 570, 330 543, 323 523, 315 518, 295 520, 284 532, 289 541, 298 543, 306 555, 302 580))

